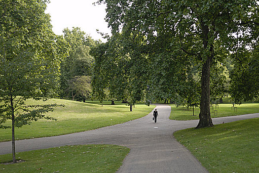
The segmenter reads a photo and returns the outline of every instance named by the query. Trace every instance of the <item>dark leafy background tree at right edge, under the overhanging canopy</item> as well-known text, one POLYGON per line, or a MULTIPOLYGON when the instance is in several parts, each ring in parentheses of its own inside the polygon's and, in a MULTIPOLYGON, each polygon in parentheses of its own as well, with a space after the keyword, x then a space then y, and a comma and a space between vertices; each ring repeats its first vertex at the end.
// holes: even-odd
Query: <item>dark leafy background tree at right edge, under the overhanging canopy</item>
POLYGON ((259 98, 259 46, 255 51, 233 53, 230 95, 236 104, 259 98))

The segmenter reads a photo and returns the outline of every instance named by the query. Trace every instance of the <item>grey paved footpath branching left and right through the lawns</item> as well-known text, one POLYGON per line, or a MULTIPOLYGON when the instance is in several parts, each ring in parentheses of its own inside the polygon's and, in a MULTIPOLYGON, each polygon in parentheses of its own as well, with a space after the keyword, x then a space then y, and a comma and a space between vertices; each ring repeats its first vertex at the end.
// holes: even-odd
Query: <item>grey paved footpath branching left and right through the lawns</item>
MULTIPOLYGON (((82 145, 115 144, 131 149, 117 173, 208 173, 198 160, 176 139, 173 132, 196 127, 198 120, 169 120, 171 107, 157 105, 158 121, 152 112, 147 116, 120 125, 67 135, 16 141, 16 152, 43 148, 82 145)), ((257 114, 214 118, 214 124, 257 118, 257 114)), ((11 153, 11 142, 0 143, 0 154, 11 153)))

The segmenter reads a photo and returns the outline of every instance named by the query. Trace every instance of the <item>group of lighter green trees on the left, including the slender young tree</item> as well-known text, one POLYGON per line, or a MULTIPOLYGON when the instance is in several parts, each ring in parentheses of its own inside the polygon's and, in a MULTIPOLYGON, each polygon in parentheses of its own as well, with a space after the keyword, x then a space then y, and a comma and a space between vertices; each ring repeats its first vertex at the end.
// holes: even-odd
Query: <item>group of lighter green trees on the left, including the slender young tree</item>
POLYGON ((46 0, 0 0, 0 128, 12 129, 14 163, 14 128, 56 120, 46 113, 63 106, 27 105, 27 99, 85 100, 91 95, 94 59, 89 51, 99 42, 79 28, 55 35, 46 6, 46 0))

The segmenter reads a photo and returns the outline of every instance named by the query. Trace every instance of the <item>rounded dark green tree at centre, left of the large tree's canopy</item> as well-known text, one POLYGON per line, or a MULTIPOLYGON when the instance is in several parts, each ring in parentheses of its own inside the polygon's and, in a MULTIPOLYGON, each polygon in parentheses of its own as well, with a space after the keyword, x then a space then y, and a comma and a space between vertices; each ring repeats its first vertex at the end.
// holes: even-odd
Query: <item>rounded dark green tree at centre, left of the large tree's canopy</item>
POLYGON ((101 102, 105 98, 123 100, 132 111, 133 105, 143 99, 145 86, 141 82, 141 69, 145 68, 141 66, 146 63, 138 61, 139 52, 131 52, 120 37, 120 34, 113 35, 107 43, 102 43, 91 51, 95 57, 93 94, 101 102))

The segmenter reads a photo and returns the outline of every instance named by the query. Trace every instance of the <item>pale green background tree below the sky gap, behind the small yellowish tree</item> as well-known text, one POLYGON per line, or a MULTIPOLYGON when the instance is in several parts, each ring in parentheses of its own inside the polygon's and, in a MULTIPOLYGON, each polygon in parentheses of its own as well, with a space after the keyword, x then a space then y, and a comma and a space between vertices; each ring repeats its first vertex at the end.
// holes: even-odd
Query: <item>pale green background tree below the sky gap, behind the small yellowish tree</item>
MULTIPOLYGON (((90 36, 87 36, 80 28, 68 28, 63 30, 65 40, 70 44, 71 50, 61 64, 61 97, 76 97, 76 100, 85 99, 79 95, 74 95, 71 92, 71 84, 75 79, 80 79, 80 76, 91 76, 93 57, 89 54, 90 49, 94 47, 97 41, 94 41, 90 36)), ((83 77, 84 78, 84 77, 83 77)))

